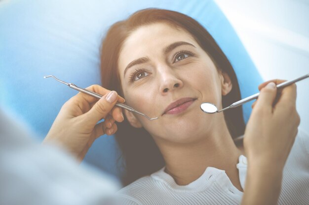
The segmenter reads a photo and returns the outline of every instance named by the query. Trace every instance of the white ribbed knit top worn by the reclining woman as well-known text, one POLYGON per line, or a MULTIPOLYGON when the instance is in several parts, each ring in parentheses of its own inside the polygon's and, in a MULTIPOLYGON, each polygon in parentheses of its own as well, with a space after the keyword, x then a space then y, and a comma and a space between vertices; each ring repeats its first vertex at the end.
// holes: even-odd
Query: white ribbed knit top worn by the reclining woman
MULTIPOLYGON (((244 189, 245 156, 236 167, 244 189)), ((242 195, 223 170, 207 167, 198 179, 180 186, 162 168, 121 189, 117 198, 121 205, 239 205, 242 195)), ((301 130, 284 167, 278 205, 309 205, 309 136, 301 130)))

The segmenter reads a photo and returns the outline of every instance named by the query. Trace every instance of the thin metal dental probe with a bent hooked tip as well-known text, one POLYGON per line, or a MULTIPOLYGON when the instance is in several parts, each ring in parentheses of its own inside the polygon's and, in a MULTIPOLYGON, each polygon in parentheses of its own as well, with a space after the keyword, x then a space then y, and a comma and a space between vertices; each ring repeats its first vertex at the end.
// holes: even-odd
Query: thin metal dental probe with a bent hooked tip
MULTIPOLYGON (((98 94, 98 93, 92 92, 92 91, 87 90, 87 89, 84 89, 84 88, 79 88, 79 87, 77 87, 76 85, 74 85, 74 84, 72 84, 72 83, 66 83, 66 82, 64 82, 64 81, 61 81, 61 80, 57 79, 55 76, 53 76, 53 75, 44 76, 44 78, 49 78, 49 77, 54 78, 56 81, 58 81, 58 82, 60 82, 60 83, 63 83, 63 84, 65 84, 65 85, 69 86, 70 88, 76 89, 76 90, 78 90, 78 91, 80 91, 80 92, 86 93, 86 94, 91 95, 91 96, 93 96, 93 97, 96 97, 96 98, 98 98, 98 99, 100 99, 100 98, 103 97, 103 95, 100 95, 100 94, 98 94)), ((143 113, 141 113, 141 112, 138 112, 138 111, 134 110, 133 108, 131 108, 131 107, 127 106, 127 105, 124 105, 124 104, 122 104, 122 103, 116 103, 116 106, 118 106, 118 107, 120 107, 120 108, 124 108, 124 109, 126 109, 126 110, 128 110, 128 111, 130 111, 130 112, 133 112, 133 113, 137 113, 137 114, 139 114, 139 115, 142 115, 142 116, 146 117, 146 118, 149 119, 149 120, 154 120, 154 119, 157 119, 157 118, 158 118, 158 117, 150 118, 150 117, 148 117, 147 115, 145 115, 145 114, 143 114, 143 113)))

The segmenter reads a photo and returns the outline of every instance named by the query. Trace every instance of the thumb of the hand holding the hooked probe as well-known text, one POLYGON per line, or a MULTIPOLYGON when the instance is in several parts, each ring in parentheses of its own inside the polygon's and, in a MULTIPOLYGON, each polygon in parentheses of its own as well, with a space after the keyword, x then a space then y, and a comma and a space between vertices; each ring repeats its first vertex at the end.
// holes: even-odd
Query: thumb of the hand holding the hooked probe
POLYGON ((91 120, 96 124, 102 118, 106 118, 109 112, 113 109, 117 102, 118 94, 116 91, 111 91, 104 95, 92 108, 86 113, 87 120, 91 120))

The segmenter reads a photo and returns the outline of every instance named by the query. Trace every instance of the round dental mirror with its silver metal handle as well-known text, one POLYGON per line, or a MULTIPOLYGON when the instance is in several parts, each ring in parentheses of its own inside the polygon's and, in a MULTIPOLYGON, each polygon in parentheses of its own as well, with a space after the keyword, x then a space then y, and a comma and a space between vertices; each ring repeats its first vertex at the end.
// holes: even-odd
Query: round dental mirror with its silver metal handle
MULTIPOLYGON (((306 75, 304 75, 304 76, 302 76, 302 77, 299 77, 299 78, 297 78, 297 79, 294 79, 294 80, 291 80, 291 81, 283 82, 283 83, 277 85, 276 87, 277 87, 277 89, 279 89, 279 88, 284 88, 284 87, 289 86, 289 85, 291 85, 291 84, 293 84, 293 83, 296 83, 296 82, 298 82, 298 81, 304 80, 304 79, 306 79, 306 78, 308 78, 308 77, 309 77, 309 74, 306 74, 306 75)), ((259 97, 259 95, 260 95, 260 93, 258 92, 258 93, 254 94, 254 95, 251 95, 251 96, 246 97, 246 98, 244 98, 244 99, 242 99, 242 100, 239 100, 239 101, 237 101, 237 102, 234 102, 234 103, 233 103, 232 105, 230 105, 229 107, 226 107, 226 108, 224 108, 224 109, 222 109, 222 110, 219 110, 219 111, 218 111, 216 105, 214 105, 213 103, 208 103, 208 102, 202 103, 202 104, 200 105, 200 109, 201 109, 204 113, 208 113, 208 114, 220 113, 220 112, 225 111, 225 110, 228 110, 228 109, 230 109, 230 108, 238 107, 238 106, 240 106, 240 105, 242 105, 242 104, 244 104, 244 103, 246 103, 246 102, 249 102, 249 101, 251 101, 251 100, 257 99, 257 98, 259 97)))

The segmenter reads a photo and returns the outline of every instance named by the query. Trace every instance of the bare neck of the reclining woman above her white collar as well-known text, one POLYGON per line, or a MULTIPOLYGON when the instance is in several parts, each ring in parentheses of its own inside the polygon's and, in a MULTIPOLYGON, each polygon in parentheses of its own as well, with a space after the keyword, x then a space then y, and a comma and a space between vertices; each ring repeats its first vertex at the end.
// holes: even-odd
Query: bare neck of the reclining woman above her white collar
POLYGON ((207 167, 215 167, 225 170, 233 184, 239 183, 236 164, 242 152, 235 146, 228 128, 221 127, 202 139, 185 145, 157 142, 166 163, 165 171, 178 185, 187 185, 200 177, 207 167))

